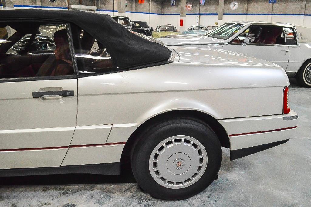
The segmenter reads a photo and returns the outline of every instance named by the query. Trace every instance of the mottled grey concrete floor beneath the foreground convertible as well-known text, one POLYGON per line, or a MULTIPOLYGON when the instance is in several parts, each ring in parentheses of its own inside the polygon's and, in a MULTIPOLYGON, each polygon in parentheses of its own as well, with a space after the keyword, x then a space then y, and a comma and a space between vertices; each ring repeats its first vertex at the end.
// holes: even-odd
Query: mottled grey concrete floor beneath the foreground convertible
POLYGON ((290 105, 299 114, 295 136, 234 161, 223 148, 219 179, 188 200, 154 199, 132 176, 53 175, 0 178, 0 206, 310 206, 311 89, 291 84, 290 105))

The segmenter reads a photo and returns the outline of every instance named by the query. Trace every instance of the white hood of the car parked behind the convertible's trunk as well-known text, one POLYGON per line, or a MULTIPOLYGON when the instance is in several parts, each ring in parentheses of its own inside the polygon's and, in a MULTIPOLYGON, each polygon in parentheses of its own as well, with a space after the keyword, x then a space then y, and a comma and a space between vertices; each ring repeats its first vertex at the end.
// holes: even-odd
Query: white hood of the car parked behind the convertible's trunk
POLYGON ((226 40, 221 40, 207 36, 173 37, 161 39, 166 45, 197 45, 197 44, 222 44, 226 40))

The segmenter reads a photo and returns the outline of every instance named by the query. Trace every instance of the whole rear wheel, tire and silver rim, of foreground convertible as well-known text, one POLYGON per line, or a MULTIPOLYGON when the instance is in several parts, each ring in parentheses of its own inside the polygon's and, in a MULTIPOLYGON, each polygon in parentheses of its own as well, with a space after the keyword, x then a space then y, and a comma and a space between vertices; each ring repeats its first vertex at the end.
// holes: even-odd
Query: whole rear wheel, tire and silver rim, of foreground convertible
POLYGON ((180 200, 203 191, 216 178, 221 147, 204 122, 176 117, 146 129, 131 162, 144 191, 159 199, 180 200))

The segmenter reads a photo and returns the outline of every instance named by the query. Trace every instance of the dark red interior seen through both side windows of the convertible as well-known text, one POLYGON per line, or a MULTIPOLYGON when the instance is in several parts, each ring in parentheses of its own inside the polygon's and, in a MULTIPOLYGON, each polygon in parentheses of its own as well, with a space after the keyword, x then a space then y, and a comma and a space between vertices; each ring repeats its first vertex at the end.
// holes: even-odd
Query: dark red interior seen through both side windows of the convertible
MULTIPOLYGON (((55 49, 42 50, 46 43, 38 42, 40 26, 51 24, 34 22, 0 23, 0 78, 30 78, 74 74, 66 27, 51 32, 55 49), (26 40, 26 46, 18 43, 26 40), (34 45, 35 49, 34 50, 34 45), (18 49, 17 49, 18 48, 18 49)), ((56 25, 56 24, 54 24, 56 25)), ((114 63, 104 45, 86 31, 78 28, 74 41, 79 73, 108 73, 114 63)))

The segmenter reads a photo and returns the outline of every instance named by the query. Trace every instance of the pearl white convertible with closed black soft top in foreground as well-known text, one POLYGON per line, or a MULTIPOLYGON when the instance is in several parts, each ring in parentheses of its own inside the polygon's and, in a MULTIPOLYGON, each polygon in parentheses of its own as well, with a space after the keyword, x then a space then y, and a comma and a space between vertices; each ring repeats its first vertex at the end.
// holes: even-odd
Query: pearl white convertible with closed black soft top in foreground
POLYGON ((297 127, 276 64, 168 48, 109 15, 0 16, 0 176, 119 175, 130 163, 147 193, 185 199, 216 179, 221 146, 234 160, 285 143, 297 127), (39 53, 44 26, 56 27, 53 53, 39 53), (25 35, 25 47, 12 50, 25 35))

